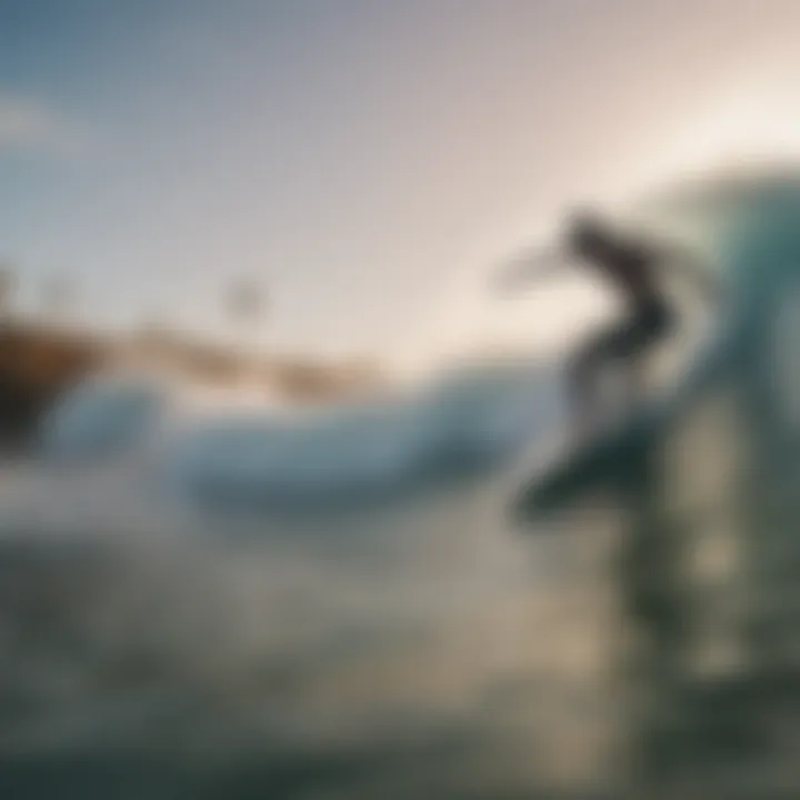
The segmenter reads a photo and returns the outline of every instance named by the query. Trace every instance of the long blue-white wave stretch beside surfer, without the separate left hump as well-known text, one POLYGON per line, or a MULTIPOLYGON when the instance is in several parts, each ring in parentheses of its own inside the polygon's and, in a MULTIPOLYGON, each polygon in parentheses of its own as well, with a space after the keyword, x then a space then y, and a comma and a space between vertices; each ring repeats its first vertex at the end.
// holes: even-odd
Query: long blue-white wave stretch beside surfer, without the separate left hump
POLYGON ((557 409, 554 381, 541 367, 473 368, 412 397, 206 419, 181 439, 174 466, 203 492, 391 491, 497 464, 557 409))

